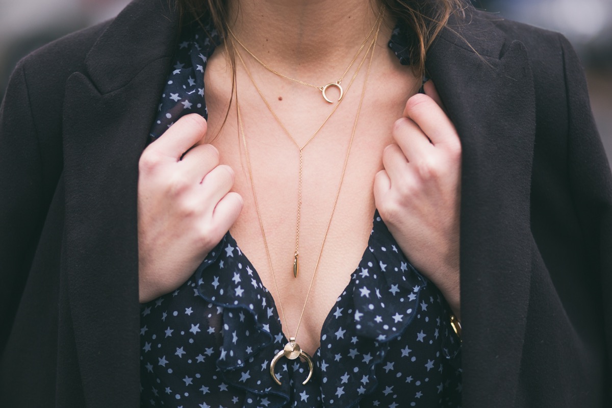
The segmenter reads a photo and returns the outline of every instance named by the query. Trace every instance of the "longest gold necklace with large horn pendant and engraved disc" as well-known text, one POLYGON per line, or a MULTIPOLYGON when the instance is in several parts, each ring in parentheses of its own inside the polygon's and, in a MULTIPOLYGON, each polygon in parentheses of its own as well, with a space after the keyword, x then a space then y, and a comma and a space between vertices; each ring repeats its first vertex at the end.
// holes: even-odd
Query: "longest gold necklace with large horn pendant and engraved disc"
MULTIPOLYGON (((334 206, 332 206, 332 212, 329 216, 329 220, 327 221, 327 226, 325 229, 325 234, 323 236, 323 242, 321 242, 321 248, 319 248, 319 254, 317 256, 316 259, 316 263, 315 263, 315 269, 313 271, 313 275, 312 278, 310 279, 310 284, 308 285, 308 291, 306 293, 306 299, 304 300, 304 306, 302 306, 302 312, 300 313, 300 318, 299 321, 297 322, 297 327, 296 327, 296 334, 294 336, 290 336, 289 337, 289 342, 287 344, 285 344, 285 347, 283 347, 283 350, 278 352, 274 358, 272 358, 272 362, 270 363, 270 374, 272 376, 272 379, 274 379, 274 381, 278 384, 281 385, 280 380, 278 380, 276 374, 274 373, 274 368, 276 363, 278 362, 278 360, 280 360, 280 358, 282 358, 283 356, 288 358, 289 360, 295 360, 298 357, 302 357, 304 358, 304 360, 306 360, 306 362, 308 363, 308 369, 309 369, 309 373, 308 373, 308 377, 304 380, 304 382, 302 382, 302 385, 307 384, 308 380, 310 380, 310 378, 312 377, 312 373, 313 373, 313 363, 312 363, 312 358, 310 357, 310 355, 308 355, 305 351, 303 351, 299 344, 297 344, 296 342, 296 338, 297 338, 297 333, 299 333, 299 329, 300 329, 300 325, 302 324, 302 317, 304 317, 304 312, 306 310, 306 305, 308 304, 308 297, 310 296, 310 291, 312 290, 312 284, 315 281, 315 276, 316 276, 316 271, 318 269, 319 266, 319 261, 321 261, 321 255, 323 254, 323 248, 325 246, 325 242, 327 240, 327 234, 329 233, 329 228, 330 225, 332 223, 332 218, 334 218, 334 212, 335 209, 337 207, 338 204, 338 198, 340 198, 340 190, 342 188, 342 183, 344 181, 344 177, 346 174, 346 166, 348 165, 348 159, 349 159, 349 155, 351 154, 351 147, 353 146, 353 141, 355 138, 355 133, 357 130, 357 122, 359 121, 359 114, 361 112, 361 107, 363 105, 364 102, 364 96, 365 96, 365 89, 367 87, 368 84, 368 78, 370 77, 370 70, 371 70, 371 65, 372 65, 372 61, 374 58, 374 51, 375 51, 375 45, 376 45, 376 39, 378 39, 378 32, 380 30, 380 24, 381 21, 378 22, 378 26, 376 28, 376 34, 373 40, 373 46, 371 46, 371 54, 370 54, 370 61, 368 62, 368 70, 367 73, 365 75, 365 79, 364 79, 364 86, 361 92, 361 97, 359 99, 359 106, 357 107, 357 113, 355 116, 355 121, 353 123, 353 130, 351 132, 351 139, 349 141, 348 144, 348 149, 346 151, 346 157, 342 166, 342 173, 340 176, 340 183, 338 184, 338 190, 336 191, 336 195, 335 195, 335 199, 334 199, 334 206)), ((369 50, 370 48, 368 48, 369 50)), ((366 54, 367 55, 367 54, 366 54)), ((351 82, 354 81, 351 80, 351 82)), ((241 136, 242 136, 242 145, 244 147, 244 155, 245 155, 245 160, 247 162, 247 169, 248 169, 248 177, 251 183, 251 189, 253 191, 253 200, 255 201, 255 209, 257 211, 257 218, 259 221, 259 228, 261 229, 261 236, 263 237, 263 241, 264 241, 264 248, 266 250, 266 256, 267 256, 267 260, 268 260, 268 265, 270 267, 270 272, 272 273, 272 280, 274 280, 274 288, 277 294, 277 299, 278 299, 278 305, 280 307, 280 313, 282 314, 283 317, 283 321, 285 322, 285 327, 287 328, 287 330, 289 330, 289 325, 287 324, 287 318, 285 316, 285 310, 283 309, 283 303, 282 300, 280 299, 280 291, 278 290, 278 284, 277 284, 277 280, 276 280, 276 275, 274 273, 274 267, 272 267, 272 257, 270 255, 270 250, 267 244, 267 240, 266 240, 266 232, 264 231, 264 225, 263 225, 263 221, 261 218, 261 211, 259 210, 259 202, 257 201, 257 193, 255 191, 255 182, 253 181, 253 171, 251 168, 251 162, 250 162, 250 158, 248 155, 248 146, 247 146, 247 138, 245 136, 245 132, 244 132, 244 123, 242 122, 242 114, 241 114, 241 109, 240 109, 240 103, 239 103, 239 99, 238 99, 238 92, 237 92, 237 86, 234 88, 234 92, 236 95, 236 114, 238 117, 238 127, 240 129, 241 132, 241 136)))

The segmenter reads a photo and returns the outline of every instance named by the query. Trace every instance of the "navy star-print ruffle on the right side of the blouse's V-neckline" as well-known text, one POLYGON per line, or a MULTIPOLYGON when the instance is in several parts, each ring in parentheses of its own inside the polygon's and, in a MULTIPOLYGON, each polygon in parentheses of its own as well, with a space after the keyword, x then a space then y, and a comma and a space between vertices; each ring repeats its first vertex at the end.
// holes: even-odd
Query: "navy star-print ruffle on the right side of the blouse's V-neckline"
MULTIPOLYGON (((353 310, 345 322, 347 327, 352 328, 351 332, 356 335, 357 341, 353 336, 332 339, 337 347, 349 347, 351 351, 356 349, 356 353, 364 356, 364 361, 368 359, 367 371, 347 371, 349 379, 346 384, 362 385, 353 395, 346 393, 346 398, 332 398, 337 391, 337 382, 324 381, 321 384, 323 401, 330 402, 329 406, 334 407, 355 407, 378 388, 376 366, 384 361, 389 351, 389 342, 406 332, 417 314, 420 292, 427 285, 428 280, 412 267, 397 247, 377 210, 368 248, 359 267, 351 275, 348 286, 351 289, 341 295, 350 296, 353 300, 353 310), (384 261, 376 256, 378 251, 386 254, 384 261), (338 344, 338 341, 344 344, 338 344), (370 351, 376 353, 372 355, 370 351)), ((319 356, 324 366, 335 359, 334 347, 329 349, 332 352, 327 352, 330 340, 326 335, 329 336, 329 333, 323 335, 319 356)))

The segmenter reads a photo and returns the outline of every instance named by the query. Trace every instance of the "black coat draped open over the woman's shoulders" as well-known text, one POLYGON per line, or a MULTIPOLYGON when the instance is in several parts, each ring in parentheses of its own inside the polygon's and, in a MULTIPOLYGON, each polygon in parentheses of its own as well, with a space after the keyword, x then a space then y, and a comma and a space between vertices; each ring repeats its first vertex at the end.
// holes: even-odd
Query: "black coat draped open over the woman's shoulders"
MULTIPOLYGON (((31 54, 0 111, 0 406, 136 407, 136 191, 166 1, 31 54)), ((463 146, 463 406, 611 406, 612 181, 559 34, 474 12, 428 53, 463 146), (472 48, 473 47, 473 48, 472 48), (476 52, 475 52, 476 51, 476 52)))

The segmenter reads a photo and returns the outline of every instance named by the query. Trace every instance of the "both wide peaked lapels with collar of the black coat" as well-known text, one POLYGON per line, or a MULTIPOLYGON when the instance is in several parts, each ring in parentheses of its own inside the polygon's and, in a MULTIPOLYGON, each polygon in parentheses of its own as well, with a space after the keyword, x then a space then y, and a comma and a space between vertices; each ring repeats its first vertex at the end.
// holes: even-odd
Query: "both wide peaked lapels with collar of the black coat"
MULTIPOLYGON (((177 27, 176 10, 165 0, 133 1, 89 52, 86 72, 66 85, 70 217, 62 276, 92 407, 138 405, 138 159, 170 72, 177 27), (114 384, 113 392, 99 384, 114 384)), ((469 23, 453 21, 442 32, 427 62, 463 146, 466 406, 485 398, 492 406, 513 405, 529 297, 534 90, 524 46, 505 38, 475 12, 469 23), (498 378, 500 387, 483 387, 498 378), (485 389, 499 394, 480 395, 485 389)))

